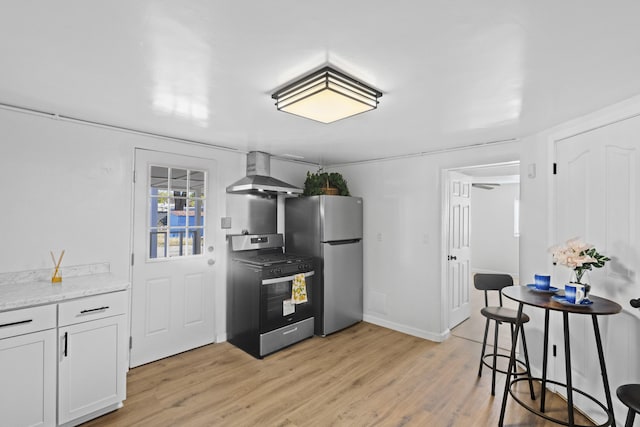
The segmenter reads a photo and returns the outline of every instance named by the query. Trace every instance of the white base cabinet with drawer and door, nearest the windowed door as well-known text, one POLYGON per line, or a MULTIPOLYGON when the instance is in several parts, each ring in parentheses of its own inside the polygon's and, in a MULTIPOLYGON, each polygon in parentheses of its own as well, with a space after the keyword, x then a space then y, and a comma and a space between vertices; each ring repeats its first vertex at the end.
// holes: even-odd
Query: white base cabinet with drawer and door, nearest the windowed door
POLYGON ((127 292, 58 306, 58 423, 76 425, 121 406, 126 395, 127 292))

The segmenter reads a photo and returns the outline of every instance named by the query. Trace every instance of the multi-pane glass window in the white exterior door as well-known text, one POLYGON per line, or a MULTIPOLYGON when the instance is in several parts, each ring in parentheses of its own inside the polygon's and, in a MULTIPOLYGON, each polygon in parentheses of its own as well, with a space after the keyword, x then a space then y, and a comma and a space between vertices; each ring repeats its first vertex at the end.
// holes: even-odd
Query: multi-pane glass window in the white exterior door
POLYGON ((203 253, 206 182, 205 171, 149 167, 149 259, 203 253))

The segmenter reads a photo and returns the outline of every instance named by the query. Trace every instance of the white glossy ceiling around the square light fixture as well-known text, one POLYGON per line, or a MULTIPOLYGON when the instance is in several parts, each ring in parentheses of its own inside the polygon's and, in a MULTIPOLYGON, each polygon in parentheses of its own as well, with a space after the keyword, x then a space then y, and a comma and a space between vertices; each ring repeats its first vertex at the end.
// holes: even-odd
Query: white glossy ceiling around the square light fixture
POLYGON ((3 0, 0 103, 336 164, 523 137, 640 93, 637 0, 3 0), (321 124, 325 63, 383 92, 321 124))

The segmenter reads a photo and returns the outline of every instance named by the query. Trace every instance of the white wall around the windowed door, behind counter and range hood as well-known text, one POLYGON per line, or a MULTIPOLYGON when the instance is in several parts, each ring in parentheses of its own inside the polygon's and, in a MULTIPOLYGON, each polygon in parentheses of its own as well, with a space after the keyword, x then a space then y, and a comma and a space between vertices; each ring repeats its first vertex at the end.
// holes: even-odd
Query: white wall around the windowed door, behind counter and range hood
MULTIPOLYGON (((51 267, 49 251, 66 250, 64 265, 108 262, 130 277, 132 168, 135 147, 215 160, 220 185, 209 206, 216 217, 216 336, 226 336, 226 185, 245 174, 245 154, 54 120, 0 108, 0 273, 51 267)), ((302 186, 312 166, 272 160, 272 175, 302 186)), ((63 282, 64 286, 64 282, 63 282)), ((135 284, 134 284, 135 286, 135 284)))

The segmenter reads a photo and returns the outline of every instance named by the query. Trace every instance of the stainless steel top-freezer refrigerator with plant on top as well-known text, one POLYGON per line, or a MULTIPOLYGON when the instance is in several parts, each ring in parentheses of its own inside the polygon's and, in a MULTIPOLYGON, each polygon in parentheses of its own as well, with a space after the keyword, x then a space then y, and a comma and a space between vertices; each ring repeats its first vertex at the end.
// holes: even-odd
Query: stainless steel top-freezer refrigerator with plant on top
POLYGON ((316 335, 362 320, 362 198, 286 199, 285 247, 316 259, 316 335))

